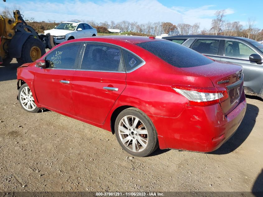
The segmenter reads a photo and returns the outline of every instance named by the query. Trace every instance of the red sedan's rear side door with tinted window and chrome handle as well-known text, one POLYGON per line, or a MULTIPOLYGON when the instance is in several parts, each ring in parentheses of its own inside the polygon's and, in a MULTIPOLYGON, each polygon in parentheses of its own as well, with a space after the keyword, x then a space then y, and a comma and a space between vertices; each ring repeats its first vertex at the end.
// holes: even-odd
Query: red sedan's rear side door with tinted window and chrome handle
POLYGON ((81 56, 72 83, 76 116, 103 124, 126 87, 121 49, 115 45, 88 42, 81 56))

